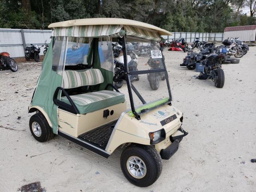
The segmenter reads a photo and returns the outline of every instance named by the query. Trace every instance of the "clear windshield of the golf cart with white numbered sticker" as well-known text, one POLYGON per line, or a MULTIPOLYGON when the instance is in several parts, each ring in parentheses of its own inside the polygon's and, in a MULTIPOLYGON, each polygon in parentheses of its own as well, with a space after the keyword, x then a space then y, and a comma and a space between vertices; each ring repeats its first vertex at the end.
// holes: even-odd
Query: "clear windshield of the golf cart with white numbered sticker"
MULTIPOLYGON (((146 110, 151 110, 152 105, 148 104, 154 106, 157 103, 156 108, 170 100, 160 44, 156 41, 126 42, 126 54, 133 104, 140 109, 136 112, 142 113, 139 106, 144 105, 146 110)), ((118 60, 123 60, 123 56, 119 56, 118 60)))

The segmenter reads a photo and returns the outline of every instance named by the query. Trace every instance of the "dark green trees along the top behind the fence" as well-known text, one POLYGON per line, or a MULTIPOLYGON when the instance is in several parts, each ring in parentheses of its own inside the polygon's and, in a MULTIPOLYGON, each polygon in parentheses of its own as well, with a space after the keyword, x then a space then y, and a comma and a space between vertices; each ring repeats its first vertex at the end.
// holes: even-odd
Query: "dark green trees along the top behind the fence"
POLYGON ((1 0, 0 28, 47 29, 52 22, 109 17, 147 22, 172 32, 223 32, 226 26, 256 24, 255 17, 240 13, 242 1, 1 0))

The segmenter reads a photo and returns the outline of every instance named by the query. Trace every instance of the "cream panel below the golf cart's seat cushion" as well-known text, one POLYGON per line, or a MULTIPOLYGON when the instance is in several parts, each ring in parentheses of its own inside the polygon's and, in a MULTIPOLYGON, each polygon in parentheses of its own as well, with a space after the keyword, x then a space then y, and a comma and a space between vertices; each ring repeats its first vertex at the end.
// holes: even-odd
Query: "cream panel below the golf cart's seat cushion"
POLYGON ((74 137, 102 126, 111 121, 117 120, 123 111, 126 110, 126 102, 103 108, 87 114, 72 114, 58 109, 59 130, 74 137), (103 117, 104 110, 113 110, 113 114, 107 118, 103 117))

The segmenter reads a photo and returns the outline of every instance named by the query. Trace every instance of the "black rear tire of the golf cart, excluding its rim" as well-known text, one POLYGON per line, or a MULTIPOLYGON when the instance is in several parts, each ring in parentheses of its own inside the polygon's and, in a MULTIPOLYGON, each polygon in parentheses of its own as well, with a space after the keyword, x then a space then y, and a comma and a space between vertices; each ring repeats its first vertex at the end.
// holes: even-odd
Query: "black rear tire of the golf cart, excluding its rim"
POLYGON ((38 140, 39 142, 46 142, 50 139, 53 138, 54 134, 52 132, 52 128, 49 126, 46 118, 44 117, 44 115, 42 113, 36 113, 33 116, 30 117, 29 120, 29 128, 30 128, 30 132, 33 135, 33 137, 38 140), (41 135, 36 136, 36 134, 34 133, 34 131, 32 130, 32 124, 33 122, 36 122, 37 124, 39 124, 40 128, 41 128, 41 135))

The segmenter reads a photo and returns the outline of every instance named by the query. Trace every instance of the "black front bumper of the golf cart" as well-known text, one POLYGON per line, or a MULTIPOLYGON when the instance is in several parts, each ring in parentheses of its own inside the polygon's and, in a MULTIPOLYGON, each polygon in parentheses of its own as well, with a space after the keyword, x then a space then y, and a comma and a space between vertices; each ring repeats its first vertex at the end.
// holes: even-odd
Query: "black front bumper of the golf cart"
POLYGON ((170 141, 172 142, 172 144, 170 144, 166 149, 162 149, 160 151, 160 156, 162 159, 165 159, 165 160, 170 159, 173 156, 173 154, 176 153, 176 151, 178 151, 179 142, 182 140, 184 136, 188 134, 188 132, 183 130, 181 127, 178 128, 177 132, 175 132, 170 136, 170 141), (180 132, 183 134, 179 134, 177 132, 180 132))

